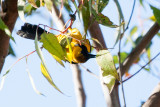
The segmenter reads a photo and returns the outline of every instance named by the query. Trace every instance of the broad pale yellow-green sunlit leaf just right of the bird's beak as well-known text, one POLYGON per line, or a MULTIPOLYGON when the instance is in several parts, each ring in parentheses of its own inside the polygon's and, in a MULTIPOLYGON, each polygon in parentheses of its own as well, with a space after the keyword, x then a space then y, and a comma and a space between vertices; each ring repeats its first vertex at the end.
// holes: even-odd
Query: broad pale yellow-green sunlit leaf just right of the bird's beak
POLYGON ((119 80, 112 55, 108 50, 100 50, 96 60, 102 70, 103 81, 107 84, 109 91, 114 87, 115 80, 119 80))

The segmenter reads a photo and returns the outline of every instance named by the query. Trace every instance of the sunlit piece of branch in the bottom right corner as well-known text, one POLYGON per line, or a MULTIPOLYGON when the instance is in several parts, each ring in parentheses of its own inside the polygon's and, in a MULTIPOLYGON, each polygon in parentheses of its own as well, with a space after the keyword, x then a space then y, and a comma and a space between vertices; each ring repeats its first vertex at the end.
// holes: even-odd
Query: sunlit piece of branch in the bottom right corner
POLYGON ((156 86, 151 96, 142 107, 160 107, 160 83, 156 86))

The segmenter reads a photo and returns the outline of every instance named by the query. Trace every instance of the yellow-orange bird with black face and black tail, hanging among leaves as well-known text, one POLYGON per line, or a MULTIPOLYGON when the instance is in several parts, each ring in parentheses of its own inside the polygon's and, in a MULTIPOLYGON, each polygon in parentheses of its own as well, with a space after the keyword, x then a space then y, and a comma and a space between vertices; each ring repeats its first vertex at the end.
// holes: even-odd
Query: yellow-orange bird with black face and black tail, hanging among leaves
MULTIPOLYGON (((72 52, 69 51, 68 44, 66 46, 62 46, 65 48, 68 61, 72 63, 84 63, 89 58, 95 58, 95 55, 90 54, 91 52, 91 45, 89 43, 88 39, 83 39, 81 33, 76 28, 69 28, 70 32, 68 33, 69 38, 71 38, 70 46, 72 48, 72 52)), ((21 30, 17 32, 18 35, 20 35, 23 38, 27 39, 35 39, 36 31, 38 34, 38 40, 41 39, 41 34, 45 31, 44 29, 38 27, 37 25, 32 25, 29 23, 25 23, 24 26, 21 27, 21 30)), ((64 35, 58 35, 57 39, 59 43, 61 44, 62 40, 65 39, 64 35)))

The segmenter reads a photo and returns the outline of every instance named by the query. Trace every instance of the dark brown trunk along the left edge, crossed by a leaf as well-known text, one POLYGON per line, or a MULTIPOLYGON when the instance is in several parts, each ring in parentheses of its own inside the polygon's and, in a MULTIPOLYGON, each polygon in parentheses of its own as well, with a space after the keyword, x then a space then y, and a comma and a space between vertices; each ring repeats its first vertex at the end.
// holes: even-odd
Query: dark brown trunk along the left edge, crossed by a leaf
MULTIPOLYGON (((12 32, 18 17, 17 0, 5 0, 4 3, 6 4, 6 9, 5 14, 1 18, 4 21, 4 23, 8 26, 9 30, 12 32)), ((0 30, 0 73, 5 58, 8 55, 9 39, 10 38, 6 35, 6 33, 0 30)))

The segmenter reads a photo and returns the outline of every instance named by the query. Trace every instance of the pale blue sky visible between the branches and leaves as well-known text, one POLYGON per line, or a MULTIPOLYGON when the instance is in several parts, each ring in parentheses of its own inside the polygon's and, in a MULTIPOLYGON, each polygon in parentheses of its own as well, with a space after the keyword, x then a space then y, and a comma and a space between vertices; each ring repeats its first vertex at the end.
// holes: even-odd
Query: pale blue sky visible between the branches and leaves
MULTIPOLYGON (((122 6, 122 11, 125 16, 125 21, 127 22, 130 16, 130 12, 132 9, 133 0, 119 0, 122 6)), ((133 14, 133 19, 131 20, 131 24, 129 29, 131 29, 134 25, 140 25, 142 20, 144 21, 144 34, 153 24, 151 21, 148 21, 147 18, 152 16, 152 11, 148 6, 148 3, 151 3, 152 0, 146 0, 145 2, 145 10, 139 6, 139 2, 136 2, 135 11, 133 14), (142 19, 142 20, 141 20, 142 19)), ((160 2, 156 0, 152 2, 156 7, 160 6, 160 2)), ((27 22, 31 24, 50 24, 50 14, 45 11, 44 8, 39 9, 38 12, 41 12, 41 16, 37 16, 36 14, 33 16, 29 16, 26 18, 27 22)), ((118 16, 117 9, 112 0, 110 0, 108 6, 104 9, 103 13, 107 15, 114 23, 118 24, 118 16)), ((66 16, 66 20, 69 19, 68 14, 66 16)), ((30 53, 35 50, 34 41, 27 40, 21 38, 16 34, 16 32, 21 28, 24 23, 18 19, 16 22, 16 27, 13 31, 13 37, 16 40, 16 44, 12 43, 14 51, 16 53, 16 58, 12 56, 8 56, 5 61, 5 65, 2 70, 2 75, 5 71, 20 57, 30 53)), ((54 24, 54 23, 53 23, 54 24)), ((80 22, 78 20, 75 21, 74 27, 81 28, 80 22)), ((56 28, 54 26, 54 28, 56 28)), ((116 29, 111 29, 105 26, 101 26, 104 38, 106 40, 107 46, 112 47, 115 42, 115 31, 116 29)), ((83 32, 83 30, 80 30, 83 32)), ((135 37, 140 35, 139 33, 142 31, 142 27, 138 30, 138 33, 134 35, 135 37)), ((126 33, 129 34, 129 30, 126 33)), ((125 38, 126 39, 126 38, 125 38)), ((160 52, 158 37, 153 38, 153 45, 151 47, 151 55, 154 57, 158 52, 160 52), (153 48, 154 47, 154 48, 153 48)), ((124 43, 122 43, 123 46, 124 43)), ((122 51, 130 51, 130 46, 123 47, 122 51)), ((117 54, 117 47, 111 51, 112 55, 117 54)), ((95 53, 95 52, 93 52, 95 53)), ((47 62, 47 66, 49 68, 50 74, 56 83, 56 85, 68 96, 64 96, 60 94, 57 90, 55 90, 43 77, 40 71, 40 59, 36 53, 32 54, 28 58, 28 65, 26 65, 25 59, 19 61, 7 75, 7 78, 4 83, 3 89, 0 91, 0 101, 1 107, 76 107, 76 96, 74 93, 74 85, 72 81, 72 71, 70 69, 70 65, 65 63, 65 68, 61 67, 56 61, 52 58, 52 56, 45 50, 43 50, 43 54, 45 60, 47 62), (29 72, 31 73, 36 88, 42 92, 44 96, 38 95, 34 92, 28 74, 26 72, 26 66, 29 68, 29 72)), ((146 56, 143 56, 143 59, 146 60, 146 56)), ((159 68, 160 57, 158 57, 151 64, 151 72, 156 72, 159 68), (153 65, 153 66, 152 66, 153 65), (157 69, 155 69, 157 67, 157 69)), ((147 61, 146 61, 147 62, 147 61)), ((144 65, 146 62, 140 61, 141 65, 144 65)), ((96 75, 99 75, 98 65, 95 59, 90 59, 87 63, 82 64, 88 69, 90 69, 96 75)), ((140 67, 138 65, 134 65, 130 69, 130 73, 133 74, 140 67)), ((160 78, 159 78, 160 79, 160 78)), ((139 74, 137 74, 132 79, 128 80, 124 83, 125 97, 127 107, 138 107, 141 105, 141 101, 146 101, 152 92, 153 88, 158 84, 159 79, 155 78, 152 73, 146 72, 142 70, 139 74)), ((86 107, 106 107, 106 103, 104 100, 103 92, 101 89, 100 81, 94 76, 87 73, 82 68, 82 80, 84 89, 87 96, 86 107)), ((122 104, 122 92, 121 88, 119 90, 120 93, 120 101, 122 104)), ((123 105, 123 104, 122 104, 123 105)))

